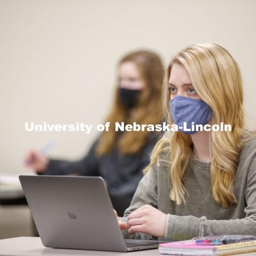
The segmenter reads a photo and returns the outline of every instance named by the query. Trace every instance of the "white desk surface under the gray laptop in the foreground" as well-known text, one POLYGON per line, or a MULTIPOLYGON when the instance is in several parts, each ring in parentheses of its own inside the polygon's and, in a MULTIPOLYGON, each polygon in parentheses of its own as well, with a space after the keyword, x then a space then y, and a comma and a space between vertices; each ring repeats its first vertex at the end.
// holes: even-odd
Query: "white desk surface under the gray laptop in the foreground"
MULTIPOLYGON (((39 237, 15 237, 9 239, 0 240, 0 255, 5 256, 60 256, 60 255, 83 255, 83 256, 106 256, 106 255, 161 255, 158 252, 158 249, 154 250, 145 250, 137 252, 103 252, 103 251, 86 251, 86 250, 67 250, 67 249, 52 249, 46 248, 41 243, 39 237)), ((256 252, 251 253, 242 253, 242 254, 233 254, 239 256, 255 256, 256 252)))

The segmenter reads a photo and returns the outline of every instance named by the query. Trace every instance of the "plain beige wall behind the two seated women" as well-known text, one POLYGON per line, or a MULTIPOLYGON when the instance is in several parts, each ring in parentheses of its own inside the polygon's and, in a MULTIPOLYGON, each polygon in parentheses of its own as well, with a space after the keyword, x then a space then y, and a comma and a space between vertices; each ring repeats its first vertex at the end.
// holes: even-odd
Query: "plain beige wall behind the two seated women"
POLYGON ((0 172, 24 172, 30 148, 76 158, 97 131, 26 132, 25 121, 99 124, 110 106, 119 57, 152 49, 164 63, 182 47, 214 42, 241 67, 255 121, 256 1, 0 1, 0 172))

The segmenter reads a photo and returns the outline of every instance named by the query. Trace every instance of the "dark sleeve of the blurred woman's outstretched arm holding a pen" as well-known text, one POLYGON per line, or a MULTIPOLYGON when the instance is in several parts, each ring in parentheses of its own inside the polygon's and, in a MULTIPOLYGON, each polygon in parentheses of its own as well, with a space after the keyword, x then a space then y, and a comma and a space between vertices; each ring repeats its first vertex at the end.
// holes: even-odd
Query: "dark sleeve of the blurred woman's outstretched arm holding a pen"
POLYGON ((98 176, 99 159, 95 153, 98 140, 96 140, 85 157, 78 161, 66 161, 61 159, 49 159, 44 175, 88 175, 98 176))

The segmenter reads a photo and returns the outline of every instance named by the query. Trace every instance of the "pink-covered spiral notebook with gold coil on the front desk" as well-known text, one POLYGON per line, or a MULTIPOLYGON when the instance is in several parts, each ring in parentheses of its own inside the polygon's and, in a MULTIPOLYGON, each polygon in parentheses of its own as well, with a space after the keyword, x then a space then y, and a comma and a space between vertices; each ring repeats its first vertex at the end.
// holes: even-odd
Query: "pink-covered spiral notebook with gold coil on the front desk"
POLYGON ((256 251, 256 241, 231 243, 226 245, 198 245, 195 240, 159 244, 159 253, 184 256, 230 255, 256 251))

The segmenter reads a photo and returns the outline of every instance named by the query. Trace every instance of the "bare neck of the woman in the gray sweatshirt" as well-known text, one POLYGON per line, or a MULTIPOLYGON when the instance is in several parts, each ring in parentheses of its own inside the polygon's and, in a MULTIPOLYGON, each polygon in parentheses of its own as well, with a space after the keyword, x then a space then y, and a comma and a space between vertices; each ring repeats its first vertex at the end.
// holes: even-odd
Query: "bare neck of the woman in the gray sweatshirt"
POLYGON ((196 158, 202 162, 210 163, 210 133, 206 131, 199 131, 191 135, 193 141, 193 153, 196 158))

